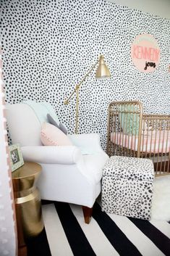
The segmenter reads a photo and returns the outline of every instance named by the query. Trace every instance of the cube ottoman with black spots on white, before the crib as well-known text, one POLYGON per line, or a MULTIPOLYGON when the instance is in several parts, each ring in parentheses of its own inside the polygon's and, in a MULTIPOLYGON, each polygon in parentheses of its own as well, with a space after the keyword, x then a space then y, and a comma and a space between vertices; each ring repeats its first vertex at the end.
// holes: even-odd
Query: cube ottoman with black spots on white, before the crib
POLYGON ((103 168, 102 210, 150 220, 153 162, 136 157, 110 157, 103 168))

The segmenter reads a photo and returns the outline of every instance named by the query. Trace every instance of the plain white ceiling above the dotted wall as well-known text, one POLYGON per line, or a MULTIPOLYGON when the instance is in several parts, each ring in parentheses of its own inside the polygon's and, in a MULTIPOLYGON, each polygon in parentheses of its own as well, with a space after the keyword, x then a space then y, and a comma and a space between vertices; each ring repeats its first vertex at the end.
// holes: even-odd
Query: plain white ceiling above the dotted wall
POLYGON ((107 0, 132 9, 170 19, 170 0, 107 0))

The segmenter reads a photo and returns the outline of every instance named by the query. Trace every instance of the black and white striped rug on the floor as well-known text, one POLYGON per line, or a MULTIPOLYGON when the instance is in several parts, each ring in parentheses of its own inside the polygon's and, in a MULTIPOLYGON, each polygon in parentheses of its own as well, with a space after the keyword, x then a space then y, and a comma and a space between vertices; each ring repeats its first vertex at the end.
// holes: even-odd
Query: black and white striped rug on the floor
POLYGON ((29 256, 170 255, 170 223, 106 214, 95 202, 90 224, 78 205, 43 205, 45 228, 27 244, 29 256))

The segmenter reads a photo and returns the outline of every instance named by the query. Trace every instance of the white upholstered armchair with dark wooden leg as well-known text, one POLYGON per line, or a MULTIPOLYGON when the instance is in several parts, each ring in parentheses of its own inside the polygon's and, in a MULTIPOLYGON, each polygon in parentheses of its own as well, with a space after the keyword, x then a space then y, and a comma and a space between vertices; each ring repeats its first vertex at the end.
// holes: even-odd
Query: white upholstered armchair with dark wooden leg
MULTIPOLYGON (((46 113, 43 119, 47 122, 46 113)), ((43 146, 41 122, 27 104, 7 104, 7 123, 12 144, 20 144, 24 160, 42 166, 37 184, 41 198, 82 205, 85 223, 89 223, 101 192, 103 165, 109 158, 98 134, 70 135, 74 146, 43 146)))

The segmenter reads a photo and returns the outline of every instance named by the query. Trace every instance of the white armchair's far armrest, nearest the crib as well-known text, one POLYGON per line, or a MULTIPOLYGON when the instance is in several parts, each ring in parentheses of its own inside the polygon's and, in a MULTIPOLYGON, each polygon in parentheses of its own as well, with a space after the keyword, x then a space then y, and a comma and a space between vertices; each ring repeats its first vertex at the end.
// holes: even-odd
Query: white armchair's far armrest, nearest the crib
POLYGON ((69 135, 69 139, 72 144, 80 148, 82 154, 95 154, 95 152, 103 151, 98 133, 72 134, 69 135))

